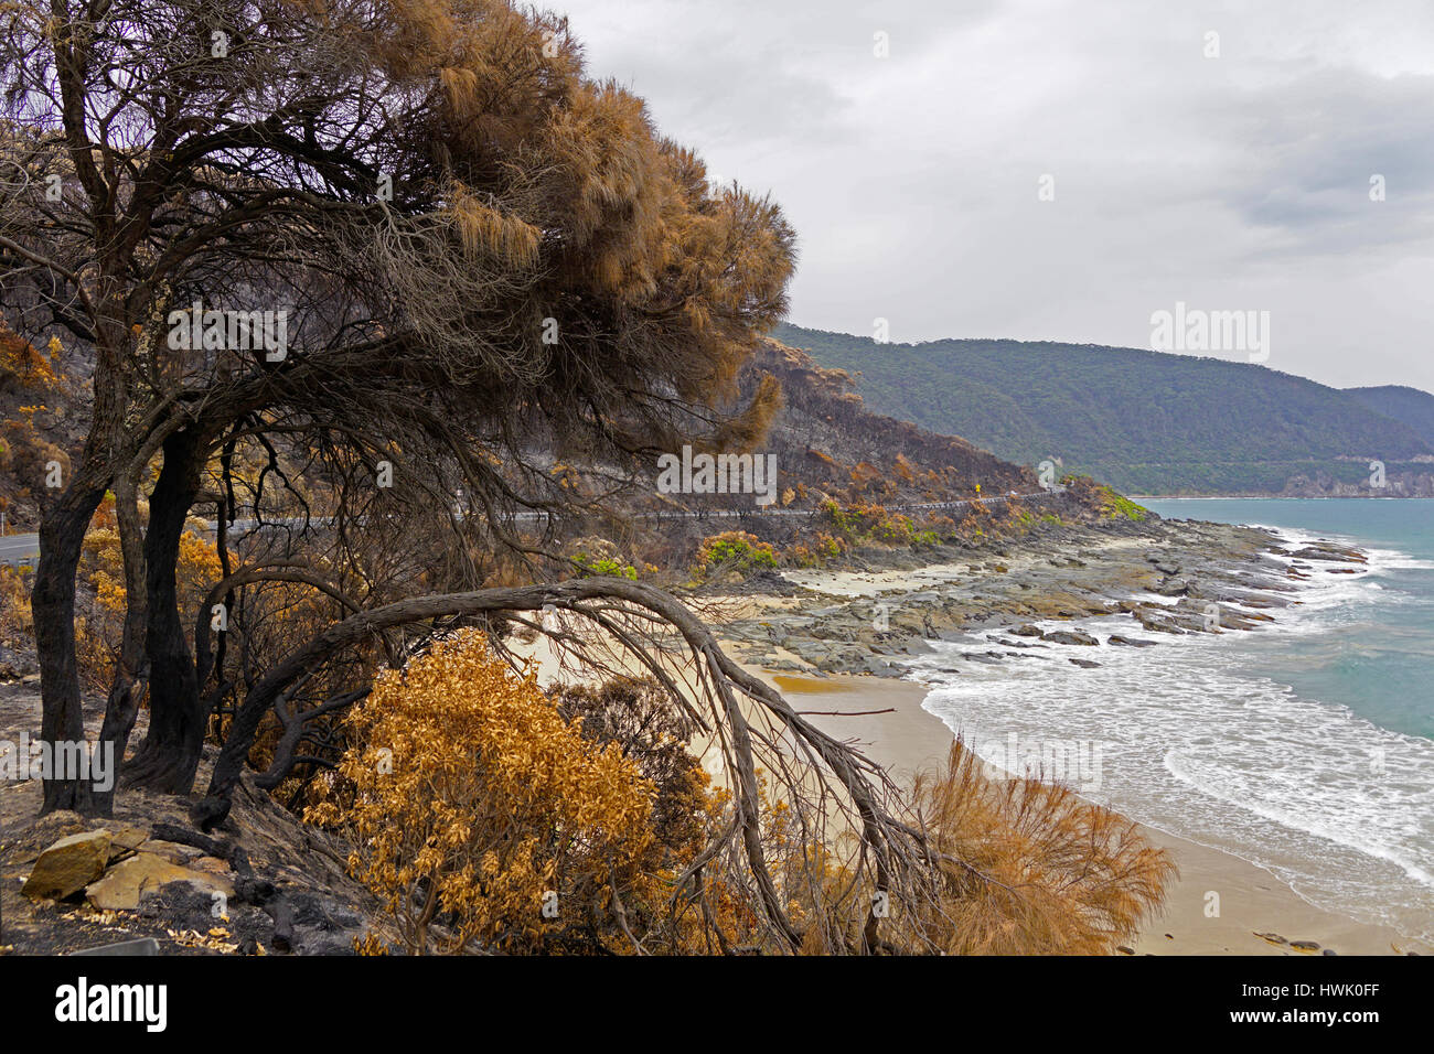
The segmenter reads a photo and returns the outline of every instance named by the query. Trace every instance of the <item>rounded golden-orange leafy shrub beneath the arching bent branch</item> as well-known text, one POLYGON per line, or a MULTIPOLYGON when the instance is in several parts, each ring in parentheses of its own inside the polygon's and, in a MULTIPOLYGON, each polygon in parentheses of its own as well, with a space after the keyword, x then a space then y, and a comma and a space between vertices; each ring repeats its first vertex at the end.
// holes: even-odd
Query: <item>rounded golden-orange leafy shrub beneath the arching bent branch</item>
POLYGON ((624 951, 624 905, 651 899, 654 786, 535 673, 460 631, 380 674, 348 724, 356 746, 305 819, 348 837, 410 954, 624 951))

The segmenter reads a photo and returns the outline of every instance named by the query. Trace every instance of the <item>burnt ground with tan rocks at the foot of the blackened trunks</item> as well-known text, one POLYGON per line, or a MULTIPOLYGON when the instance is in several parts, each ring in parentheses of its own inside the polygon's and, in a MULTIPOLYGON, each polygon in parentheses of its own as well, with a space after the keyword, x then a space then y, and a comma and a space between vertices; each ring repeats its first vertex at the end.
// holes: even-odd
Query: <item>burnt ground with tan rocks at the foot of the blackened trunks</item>
MULTIPOLYGON (((37 693, 20 693, 0 687, 0 739, 14 739, 13 721, 39 723, 37 693)), ((204 766, 211 763, 212 750, 204 766)), ((196 783, 206 779, 201 769, 196 783)), ((162 954, 347 955, 369 935, 391 941, 383 906, 347 873, 347 845, 303 823, 248 776, 209 833, 189 819, 191 804, 129 789, 113 817, 37 816, 39 780, 6 786, 6 945, 66 954, 152 938, 162 954)))

